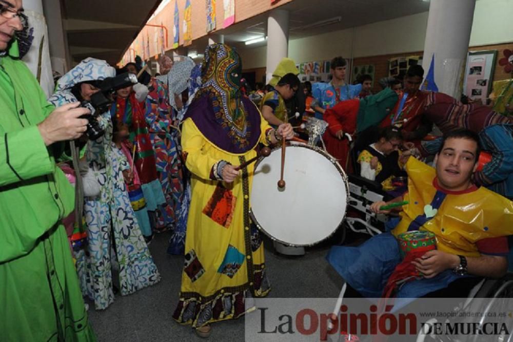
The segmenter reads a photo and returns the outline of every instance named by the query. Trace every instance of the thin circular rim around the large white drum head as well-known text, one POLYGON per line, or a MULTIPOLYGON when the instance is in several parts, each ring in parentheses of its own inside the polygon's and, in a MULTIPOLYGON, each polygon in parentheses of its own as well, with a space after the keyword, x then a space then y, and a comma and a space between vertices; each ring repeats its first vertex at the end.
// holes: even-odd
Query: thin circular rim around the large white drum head
MULTIPOLYGON (((287 143, 287 147, 302 147, 302 148, 308 148, 308 149, 311 149, 311 150, 314 150, 318 153, 320 153, 321 155, 323 155, 324 157, 326 157, 333 165, 335 165, 335 167, 337 168, 337 170, 339 171, 339 174, 342 176, 342 180, 344 181, 344 185, 345 185, 345 188, 346 188, 346 208, 345 208, 345 211, 344 211, 344 215, 342 216, 342 219, 340 220, 339 224, 337 225, 337 228, 335 230, 333 230, 333 232, 331 232, 331 234, 329 234, 328 236, 326 236, 325 238, 323 238, 322 240, 319 240, 317 242, 314 242, 314 243, 309 243, 309 244, 295 244, 295 243, 290 243, 290 242, 285 242, 285 241, 282 241, 282 240, 279 240, 275 237, 273 237, 271 234, 269 234, 261 225, 260 223, 258 222, 257 218, 254 216, 253 214, 253 210, 252 208, 250 207, 249 208, 249 216, 251 217, 251 220, 253 221, 253 223, 258 227, 258 229, 263 232, 265 235, 267 235, 271 240, 273 241, 276 241, 276 242, 280 242, 280 243, 283 243, 285 245, 288 245, 288 246, 293 246, 293 247, 311 247, 311 246, 314 246, 318 243, 321 243, 327 239, 329 239, 331 236, 333 236, 333 234, 335 234, 339 229, 340 227, 342 226, 342 223, 344 222, 345 218, 346 218, 346 214, 347 214, 347 204, 349 203, 349 184, 348 184, 348 177, 346 175, 346 173, 344 172, 344 169, 342 168, 342 166, 340 166, 339 162, 334 159, 329 153, 327 153, 325 150, 323 150, 322 148, 319 148, 319 147, 316 147, 316 146, 310 146, 310 145, 307 145, 307 144, 303 144, 303 143, 295 143, 295 144, 290 144, 290 143, 287 143)), ((281 146, 278 146, 278 147, 274 147, 273 149, 271 149, 271 153, 277 149, 281 149, 282 147, 281 146)), ((258 168, 258 166, 260 165, 260 163, 264 160, 265 158, 263 157, 260 157, 257 162, 255 162, 255 170, 258 168)), ((253 183, 254 184, 254 183, 253 183)), ((345 229, 345 227, 343 227, 343 229, 345 229)))

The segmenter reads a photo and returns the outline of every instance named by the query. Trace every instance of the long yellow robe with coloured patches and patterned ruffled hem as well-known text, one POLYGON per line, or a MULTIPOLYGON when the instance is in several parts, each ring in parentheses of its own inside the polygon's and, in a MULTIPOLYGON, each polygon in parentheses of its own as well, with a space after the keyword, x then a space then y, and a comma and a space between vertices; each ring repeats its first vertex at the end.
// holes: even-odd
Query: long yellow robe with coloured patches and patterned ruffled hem
MULTIPOLYGON (((261 116, 260 142, 271 129, 261 116)), ((185 240, 185 267, 180 303, 173 317, 181 324, 201 327, 244 314, 246 297, 265 296, 264 246, 251 228, 250 189, 254 164, 233 183, 212 180, 214 164, 240 165, 256 156, 227 153, 208 141, 192 119, 183 123, 182 146, 191 171, 192 199, 185 240)))

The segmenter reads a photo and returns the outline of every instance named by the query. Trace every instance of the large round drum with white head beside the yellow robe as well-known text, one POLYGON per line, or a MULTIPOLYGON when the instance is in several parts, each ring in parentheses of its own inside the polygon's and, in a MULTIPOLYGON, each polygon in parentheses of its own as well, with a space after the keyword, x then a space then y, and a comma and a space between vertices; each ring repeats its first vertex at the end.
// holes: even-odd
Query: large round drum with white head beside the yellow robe
POLYGON ((344 170, 317 147, 289 143, 285 188, 278 188, 281 147, 255 164, 251 192, 253 222, 273 240, 309 246, 331 236, 342 223, 348 183, 344 170))

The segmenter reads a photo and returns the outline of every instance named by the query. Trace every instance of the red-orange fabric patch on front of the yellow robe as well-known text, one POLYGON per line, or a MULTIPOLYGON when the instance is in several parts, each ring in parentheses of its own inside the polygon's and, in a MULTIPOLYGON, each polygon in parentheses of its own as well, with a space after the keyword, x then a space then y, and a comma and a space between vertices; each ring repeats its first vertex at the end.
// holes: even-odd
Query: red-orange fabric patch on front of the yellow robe
POLYGON ((222 183, 218 183, 202 212, 216 223, 228 228, 233 218, 236 200, 237 198, 230 190, 225 188, 222 183))

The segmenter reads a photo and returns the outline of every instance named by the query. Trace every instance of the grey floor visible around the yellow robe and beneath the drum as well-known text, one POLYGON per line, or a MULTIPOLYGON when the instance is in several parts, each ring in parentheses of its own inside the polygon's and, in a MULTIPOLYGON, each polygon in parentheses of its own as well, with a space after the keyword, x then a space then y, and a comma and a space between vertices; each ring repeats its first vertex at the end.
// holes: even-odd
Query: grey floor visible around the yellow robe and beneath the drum
MULTIPOLYGON (((160 283, 130 296, 116 296, 107 310, 89 308, 89 319, 99 341, 205 341, 188 326, 172 319, 180 292, 183 257, 166 253, 169 233, 157 235, 150 251, 162 275, 160 283)), ((266 264, 274 298, 334 298, 342 278, 324 259, 329 245, 307 250, 302 257, 275 255, 265 241, 266 264)), ((244 317, 212 325, 209 341, 243 341, 244 317)))

